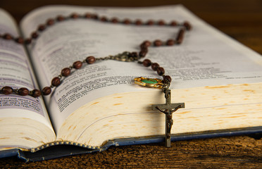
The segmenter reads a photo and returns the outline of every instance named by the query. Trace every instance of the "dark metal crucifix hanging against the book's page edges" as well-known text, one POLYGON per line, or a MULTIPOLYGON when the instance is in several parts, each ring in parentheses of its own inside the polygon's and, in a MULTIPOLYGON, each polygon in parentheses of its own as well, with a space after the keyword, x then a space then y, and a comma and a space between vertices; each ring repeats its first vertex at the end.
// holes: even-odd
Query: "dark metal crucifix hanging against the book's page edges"
POLYGON ((152 105, 153 111, 161 111, 166 114, 166 147, 171 146, 171 127, 173 125, 172 113, 177 111, 178 108, 185 108, 185 103, 171 104, 171 91, 170 89, 164 90, 166 97, 166 104, 152 105))

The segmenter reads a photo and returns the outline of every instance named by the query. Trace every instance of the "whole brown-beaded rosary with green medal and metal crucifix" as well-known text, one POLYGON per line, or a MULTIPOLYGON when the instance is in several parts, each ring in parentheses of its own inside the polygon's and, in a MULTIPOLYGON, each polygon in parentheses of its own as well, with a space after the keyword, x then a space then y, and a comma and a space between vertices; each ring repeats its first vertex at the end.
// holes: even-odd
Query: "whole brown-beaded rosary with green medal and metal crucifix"
POLYGON ((40 33, 46 30, 47 27, 51 27, 55 23, 61 23, 65 20, 76 20, 77 18, 85 18, 92 20, 100 20, 104 23, 120 23, 124 25, 137 25, 137 26, 150 26, 150 25, 159 25, 159 26, 169 26, 169 27, 180 27, 180 30, 177 33, 175 39, 168 39, 166 42, 163 42, 159 39, 156 39, 154 42, 150 42, 148 40, 142 42, 140 44, 140 51, 129 52, 125 51, 122 54, 117 54, 115 56, 106 56, 104 58, 95 58, 94 56, 88 56, 84 61, 75 61, 73 65, 68 66, 68 68, 63 68, 61 70, 61 74, 57 77, 54 77, 51 80, 51 85, 49 87, 44 87, 42 91, 39 89, 33 89, 29 91, 29 89, 25 87, 21 87, 20 89, 13 89, 12 87, 2 87, 0 90, 0 94, 18 94, 20 96, 33 96, 39 97, 41 95, 49 95, 51 94, 51 88, 58 87, 62 78, 68 77, 70 75, 72 69, 80 69, 83 64, 93 64, 96 61, 104 61, 104 60, 116 60, 116 61, 125 61, 125 62, 135 62, 144 65, 145 67, 150 67, 151 69, 156 71, 156 73, 163 77, 163 80, 157 78, 146 78, 146 77, 137 77, 135 78, 135 84, 139 84, 144 87, 155 87, 161 89, 165 94, 166 104, 155 104, 152 105, 153 111, 158 110, 166 115, 166 146, 171 146, 171 127, 173 125, 172 114, 177 111, 179 108, 185 108, 184 103, 171 104, 171 91, 169 89, 171 77, 169 75, 165 75, 165 69, 162 68, 158 63, 152 63, 149 59, 144 59, 144 61, 139 61, 140 58, 144 58, 148 52, 149 46, 173 46, 175 44, 181 44, 185 31, 191 30, 192 26, 188 22, 177 23, 175 20, 170 23, 166 23, 164 20, 147 20, 143 22, 142 20, 130 20, 124 19, 119 20, 118 18, 106 18, 105 16, 99 16, 92 13, 86 13, 85 15, 79 15, 77 13, 73 13, 69 16, 58 15, 56 18, 50 18, 46 20, 46 23, 39 25, 35 32, 32 32, 31 37, 27 39, 23 39, 22 37, 13 37, 12 35, 6 33, 4 35, 0 35, 0 38, 6 40, 13 40, 18 44, 31 44, 33 40, 39 37, 40 33))

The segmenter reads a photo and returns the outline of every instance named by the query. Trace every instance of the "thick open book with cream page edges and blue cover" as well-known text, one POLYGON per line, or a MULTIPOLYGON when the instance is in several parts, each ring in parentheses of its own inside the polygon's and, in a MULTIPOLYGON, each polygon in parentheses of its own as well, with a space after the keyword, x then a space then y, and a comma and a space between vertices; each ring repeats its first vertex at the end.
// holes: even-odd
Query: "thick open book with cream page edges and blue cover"
MULTIPOLYGON (((30 37, 49 18, 87 12, 193 25, 182 44, 149 48, 146 56, 172 77, 172 102, 185 103, 173 113, 173 140, 262 132, 262 57, 183 6, 46 6, 28 13, 20 27, 1 10, 0 35, 21 32, 30 37)), ((0 87, 42 89, 74 61, 139 51, 144 40, 168 39, 177 31, 79 18, 48 27, 28 46, 0 39, 0 87)), ((152 104, 165 103, 163 92, 134 84, 134 77, 141 76, 158 77, 137 63, 99 61, 74 71, 50 96, 0 94, 1 156, 13 149, 35 152, 57 144, 82 146, 88 152, 163 141, 165 115, 151 110, 152 104)))

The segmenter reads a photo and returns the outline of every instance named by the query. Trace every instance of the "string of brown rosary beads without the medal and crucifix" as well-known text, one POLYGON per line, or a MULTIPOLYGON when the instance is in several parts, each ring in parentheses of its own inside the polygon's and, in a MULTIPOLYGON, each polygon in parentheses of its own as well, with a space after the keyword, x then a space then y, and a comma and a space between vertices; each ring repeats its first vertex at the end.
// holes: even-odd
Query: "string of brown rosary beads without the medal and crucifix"
MULTIPOLYGON (((41 32, 46 30, 46 28, 51 27, 55 23, 61 23, 66 20, 76 20, 77 18, 86 18, 86 19, 92 19, 92 20, 100 20, 104 23, 119 23, 124 25, 137 25, 137 26, 151 26, 151 25, 158 25, 158 26, 169 26, 169 27, 180 27, 180 30, 177 33, 177 36, 174 39, 168 39, 166 41, 161 41, 160 39, 154 40, 154 42, 150 42, 148 40, 142 42, 140 44, 140 51, 133 51, 133 52, 123 52, 123 54, 118 54, 116 56, 106 56, 104 58, 95 58, 94 56, 87 56, 84 61, 75 61, 73 65, 70 65, 68 68, 63 68, 61 70, 61 74, 57 77, 54 77, 51 80, 51 85, 49 87, 44 87, 42 91, 39 89, 33 89, 29 91, 29 89, 25 87, 21 87, 20 89, 13 89, 12 87, 2 87, 0 93, 1 94, 18 94, 20 96, 33 96, 38 97, 41 95, 49 95, 51 94, 51 91, 53 87, 58 87, 62 82, 62 77, 68 77, 70 73, 72 72, 72 69, 80 69, 82 68, 83 64, 93 64, 96 61, 104 61, 104 60, 116 60, 116 61, 138 61, 140 58, 144 58, 148 52, 149 46, 173 46, 175 44, 181 44, 184 38, 184 34, 186 30, 191 30, 192 26, 188 22, 184 23, 177 23, 175 20, 171 21, 170 23, 166 23, 164 20, 147 20, 142 21, 140 19, 137 20, 130 20, 130 19, 124 19, 119 20, 118 18, 106 18, 106 16, 99 16, 92 13, 86 13, 85 15, 79 15, 77 13, 73 13, 69 16, 63 16, 58 15, 56 18, 49 18, 46 20, 46 23, 40 24, 37 27, 37 30, 32 32, 31 37, 23 39, 22 37, 13 37, 12 35, 6 33, 4 35, 0 35, 0 38, 6 39, 6 40, 13 40, 14 42, 18 44, 25 44, 29 45, 32 43, 33 40, 37 39, 39 35, 41 35, 41 32)), ((162 68, 158 63, 152 63, 149 59, 144 59, 144 61, 138 61, 137 63, 140 63, 144 65, 145 67, 151 66, 152 70, 156 71, 156 73, 163 77, 163 82, 166 84, 167 87, 169 87, 171 82, 171 77, 169 75, 165 75, 165 69, 162 68)))

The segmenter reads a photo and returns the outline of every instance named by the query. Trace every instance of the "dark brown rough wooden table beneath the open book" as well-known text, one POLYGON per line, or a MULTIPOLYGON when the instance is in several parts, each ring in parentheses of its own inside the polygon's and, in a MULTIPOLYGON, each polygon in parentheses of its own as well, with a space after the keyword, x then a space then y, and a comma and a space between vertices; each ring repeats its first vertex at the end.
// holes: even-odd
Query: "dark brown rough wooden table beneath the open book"
MULTIPOLYGON (((159 6, 183 4, 207 23, 262 54, 262 1, 12 1, 1 0, 1 8, 16 20, 33 8, 48 4, 83 6, 159 6)), ((262 113, 262 112, 261 112, 262 113)), ((24 163, 17 158, 2 158, 6 168, 262 168, 262 135, 220 137, 163 144, 111 147, 110 149, 49 161, 24 163)))

